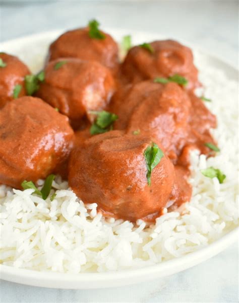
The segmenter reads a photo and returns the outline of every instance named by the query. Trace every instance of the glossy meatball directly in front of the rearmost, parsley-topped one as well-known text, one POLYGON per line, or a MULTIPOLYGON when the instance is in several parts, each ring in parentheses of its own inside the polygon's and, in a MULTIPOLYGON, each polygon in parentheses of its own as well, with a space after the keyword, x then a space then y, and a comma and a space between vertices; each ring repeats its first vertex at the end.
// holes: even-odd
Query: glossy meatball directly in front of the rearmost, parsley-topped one
POLYGON ((89 111, 102 110, 114 92, 110 71, 96 61, 61 58, 48 63, 37 96, 78 126, 89 111))

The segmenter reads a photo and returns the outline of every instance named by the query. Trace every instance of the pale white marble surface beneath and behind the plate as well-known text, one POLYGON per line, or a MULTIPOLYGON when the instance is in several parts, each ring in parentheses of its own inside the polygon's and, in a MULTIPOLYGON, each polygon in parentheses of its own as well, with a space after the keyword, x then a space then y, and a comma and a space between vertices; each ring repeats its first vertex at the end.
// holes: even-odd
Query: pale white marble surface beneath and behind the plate
MULTIPOLYGON (((1 1, 0 37, 83 26, 158 32, 238 66, 238 1, 1 1)), ((107 287, 107 285, 106 285, 107 287)), ((61 290, 1 282, 4 302, 237 302, 238 246, 187 271, 129 287, 61 290)))

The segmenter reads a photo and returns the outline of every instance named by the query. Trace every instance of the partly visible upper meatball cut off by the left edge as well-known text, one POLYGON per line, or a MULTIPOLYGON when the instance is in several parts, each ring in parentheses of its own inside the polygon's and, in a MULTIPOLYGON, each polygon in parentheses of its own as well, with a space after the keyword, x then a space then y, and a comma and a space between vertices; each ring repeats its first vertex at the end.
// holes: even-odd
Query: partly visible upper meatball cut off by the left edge
POLYGON ((30 74, 28 67, 17 57, 0 53, 0 108, 18 97, 26 95, 24 77, 30 74))

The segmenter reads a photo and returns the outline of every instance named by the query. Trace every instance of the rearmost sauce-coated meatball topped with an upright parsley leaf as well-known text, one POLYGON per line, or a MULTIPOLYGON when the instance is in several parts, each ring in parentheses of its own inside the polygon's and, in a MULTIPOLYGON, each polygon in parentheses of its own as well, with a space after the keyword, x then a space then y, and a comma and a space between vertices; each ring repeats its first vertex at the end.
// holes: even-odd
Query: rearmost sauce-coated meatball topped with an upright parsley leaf
POLYGON ((74 57, 95 60, 108 68, 114 68, 118 65, 118 46, 110 35, 103 34, 105 38, 99 40, 89 36, 88 27, 66 32, 50 45, 49 61, 74 57))

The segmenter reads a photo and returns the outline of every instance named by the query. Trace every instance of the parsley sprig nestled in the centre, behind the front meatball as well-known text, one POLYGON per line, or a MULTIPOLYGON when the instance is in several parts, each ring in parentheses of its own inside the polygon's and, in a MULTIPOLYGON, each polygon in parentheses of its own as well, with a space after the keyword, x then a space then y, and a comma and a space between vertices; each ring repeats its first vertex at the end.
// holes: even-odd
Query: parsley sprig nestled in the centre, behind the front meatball
POLYGON ((104 133, 113 129, 113 122, 118 119, 118 116, 106 111, 96 112, 91 111, 90 114, 97 115, 97 118, 90 128, 92 135, 104 133))

